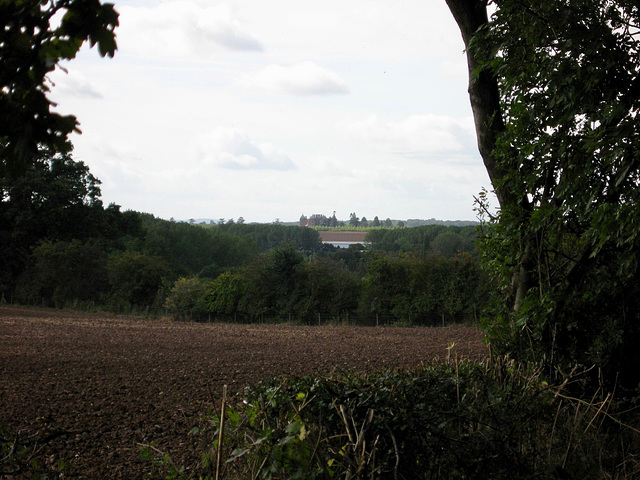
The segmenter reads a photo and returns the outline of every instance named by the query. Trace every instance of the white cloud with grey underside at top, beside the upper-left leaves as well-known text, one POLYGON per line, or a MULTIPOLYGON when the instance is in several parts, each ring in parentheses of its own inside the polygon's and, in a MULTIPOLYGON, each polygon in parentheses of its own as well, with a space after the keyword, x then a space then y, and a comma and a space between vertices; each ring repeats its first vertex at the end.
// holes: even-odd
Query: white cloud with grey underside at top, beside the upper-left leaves
POLYGON ((152 58, 211 57, 226 50, 260 51, 262 45, 225 4, 177 0, 154 7, 123 6, 119 50, 152 58))

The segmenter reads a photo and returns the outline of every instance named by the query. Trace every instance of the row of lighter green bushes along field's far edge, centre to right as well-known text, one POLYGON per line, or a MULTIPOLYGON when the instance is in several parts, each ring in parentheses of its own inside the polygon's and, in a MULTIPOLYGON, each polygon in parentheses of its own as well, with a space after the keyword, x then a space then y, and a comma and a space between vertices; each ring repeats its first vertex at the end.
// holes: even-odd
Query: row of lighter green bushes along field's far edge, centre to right
POLYGON ((181 279, 165 305, 189 315, 243 320, 266 315, 316 323, 320 315, 432 325, 475 317, 489 288, 469 255, 419 258, 338 249, 306 259, 289 245, 205 283, 181 279))

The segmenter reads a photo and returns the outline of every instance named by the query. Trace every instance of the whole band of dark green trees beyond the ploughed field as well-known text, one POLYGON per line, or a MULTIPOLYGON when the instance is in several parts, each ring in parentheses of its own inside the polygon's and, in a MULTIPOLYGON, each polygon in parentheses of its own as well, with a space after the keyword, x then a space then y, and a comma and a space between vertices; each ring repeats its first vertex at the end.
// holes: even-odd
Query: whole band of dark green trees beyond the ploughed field
POLYGON ((192 225, 104 206, 100 181, 43 151, 0 184, 0 300, 189 315, 470 318, 487 282, 476 227, 375 229, 365 248, 323 245, 311 228, 192 225))

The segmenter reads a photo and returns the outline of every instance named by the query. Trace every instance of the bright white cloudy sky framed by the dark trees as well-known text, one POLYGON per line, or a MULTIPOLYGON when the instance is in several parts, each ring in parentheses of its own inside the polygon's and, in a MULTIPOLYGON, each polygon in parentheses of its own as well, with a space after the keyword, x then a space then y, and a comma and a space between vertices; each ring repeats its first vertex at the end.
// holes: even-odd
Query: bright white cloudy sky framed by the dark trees
POLYGON ((490 183, 444 0, 114 3, 115 57, 87 45, 50 76, 105 205, 176 220, 476 219, 490 183))

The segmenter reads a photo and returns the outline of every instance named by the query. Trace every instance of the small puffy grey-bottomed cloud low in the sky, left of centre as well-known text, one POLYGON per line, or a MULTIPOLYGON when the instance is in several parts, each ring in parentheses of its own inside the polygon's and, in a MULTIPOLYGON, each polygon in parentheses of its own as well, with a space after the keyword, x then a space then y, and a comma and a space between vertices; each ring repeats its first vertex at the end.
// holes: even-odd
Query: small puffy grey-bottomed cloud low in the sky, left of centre
POLYGON ((203 135, 196 155, 206 165, 234 170, 292 170, 295 164, 269 143, 255 143, 246 132, 220 127, 203 135))

